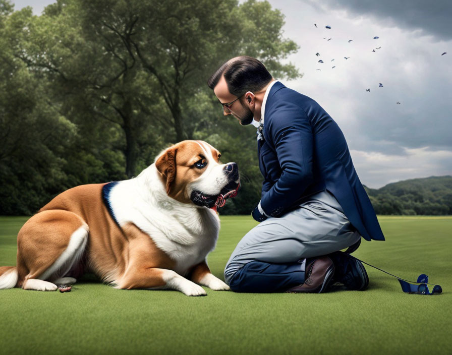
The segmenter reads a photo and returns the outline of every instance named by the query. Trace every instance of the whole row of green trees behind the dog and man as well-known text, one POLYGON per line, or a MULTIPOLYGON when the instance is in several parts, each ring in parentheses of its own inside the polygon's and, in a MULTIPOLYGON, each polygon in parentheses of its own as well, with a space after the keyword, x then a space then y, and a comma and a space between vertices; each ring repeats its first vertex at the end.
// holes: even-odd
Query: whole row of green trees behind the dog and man
POLYGON ((242 189, 223 213, 249 213, 262 180, 255 134, 223 117, 206 83, 243 54, 301 77, 283 63, 298 49, 283 25, 254 0, 58 0, 41 16, 0 0, 0 214, 136 176, 184 139, 239 164, 242 189))

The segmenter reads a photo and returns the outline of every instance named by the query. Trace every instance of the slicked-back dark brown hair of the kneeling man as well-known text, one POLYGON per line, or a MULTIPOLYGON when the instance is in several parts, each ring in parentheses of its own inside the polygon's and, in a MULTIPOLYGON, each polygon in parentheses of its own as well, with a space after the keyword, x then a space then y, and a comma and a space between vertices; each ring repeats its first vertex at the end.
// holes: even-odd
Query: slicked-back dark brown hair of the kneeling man
POLYGON ((272 79, 262 63, 246 55, 232 58, 219 67, 207 82, 209 88, 213 90, 221 75, 224 75, 229 92, 236 96, 241 96, 247 91, 258 92, 272 79))

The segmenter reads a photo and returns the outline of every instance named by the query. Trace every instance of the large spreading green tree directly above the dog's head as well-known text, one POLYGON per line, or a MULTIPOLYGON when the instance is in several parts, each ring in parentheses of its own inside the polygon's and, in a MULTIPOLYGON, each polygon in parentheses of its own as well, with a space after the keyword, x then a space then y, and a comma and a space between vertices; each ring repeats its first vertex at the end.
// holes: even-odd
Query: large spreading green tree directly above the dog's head
POLYGON ((279 62, 297 49, 281 36, 283 19, 255 1, 59 0, 18 53, 52 78, 71 121, 88 133, 105 127, 99 119, 122 130, 132 176, 144 147, 157 147, 155 155, 194 137, 207 116, 192 108, 203 105, 207 78, 228 58, 247 53, 278 76, 299 76, 279 62))

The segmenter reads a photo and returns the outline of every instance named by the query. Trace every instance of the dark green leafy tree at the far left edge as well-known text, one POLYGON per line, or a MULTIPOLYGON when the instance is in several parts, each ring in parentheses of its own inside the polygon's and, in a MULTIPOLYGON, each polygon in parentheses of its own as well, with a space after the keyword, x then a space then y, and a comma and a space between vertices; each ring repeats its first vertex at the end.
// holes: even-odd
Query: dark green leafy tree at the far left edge
POLYGON ((46 82, 14 56, 31 9, 0 0, 0 214, 31 214, 67 188, 62 154, 76 136, 46 96, 46 82))

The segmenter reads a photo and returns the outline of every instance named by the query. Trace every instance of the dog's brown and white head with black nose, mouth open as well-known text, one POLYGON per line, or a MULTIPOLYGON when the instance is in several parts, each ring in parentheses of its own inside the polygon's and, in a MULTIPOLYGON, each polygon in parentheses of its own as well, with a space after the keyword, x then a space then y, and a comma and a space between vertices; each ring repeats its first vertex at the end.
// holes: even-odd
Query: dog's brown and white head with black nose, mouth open
POLYGON ((236 163, 221 164, 221 154, 203 141, 183 141, 155 160, 168 196, 198 206, 221 207, 240 186, 236 163))

